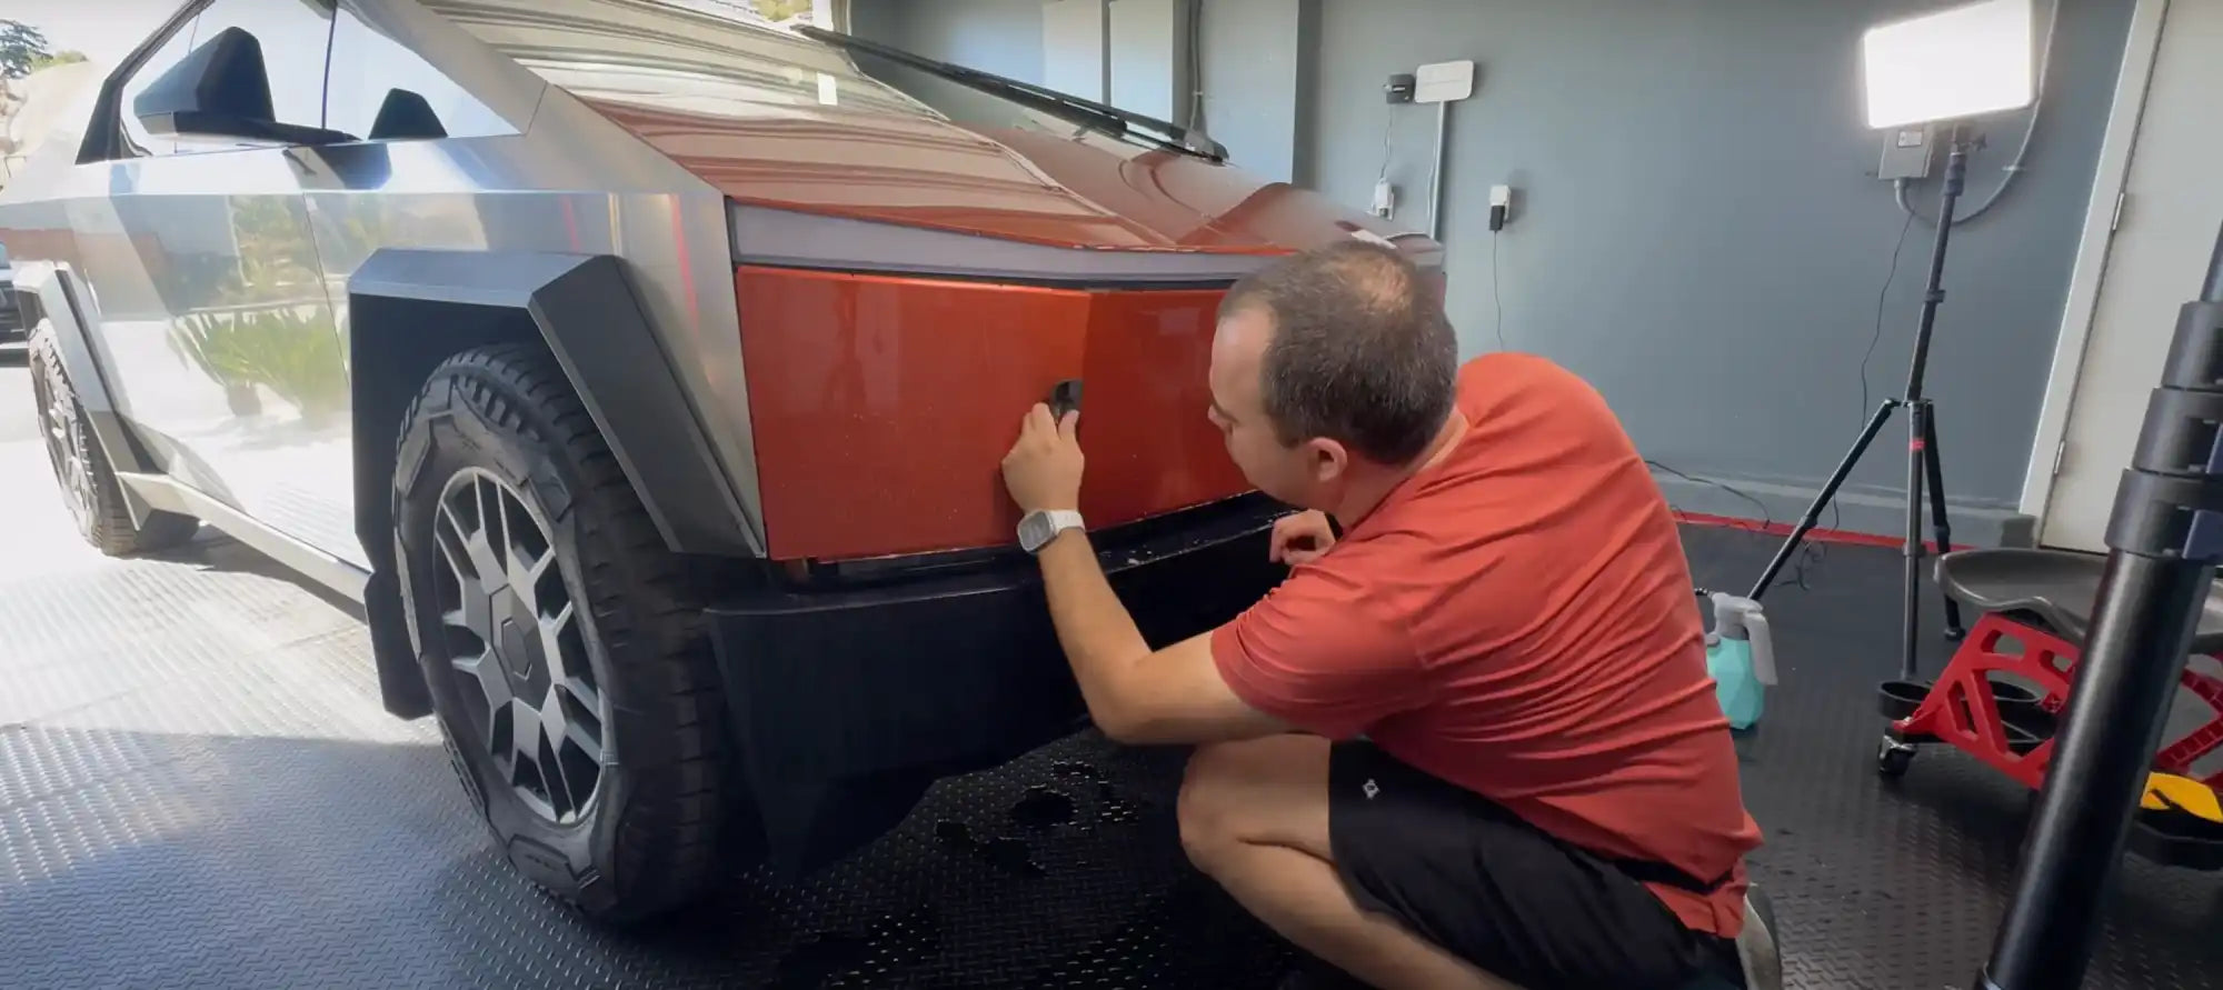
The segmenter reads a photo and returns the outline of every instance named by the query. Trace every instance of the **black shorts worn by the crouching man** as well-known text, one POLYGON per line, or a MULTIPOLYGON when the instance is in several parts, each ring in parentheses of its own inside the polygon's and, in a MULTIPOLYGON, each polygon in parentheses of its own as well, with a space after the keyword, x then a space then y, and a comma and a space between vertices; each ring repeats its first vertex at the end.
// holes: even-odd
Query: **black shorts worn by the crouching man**
POLYGON ((1494 977, 1527 990, 1745 986, 1732 939, 1689 930, 1614 863, 1374 744, 1334 746, 1327 792, 1352 899, 1494 977))

